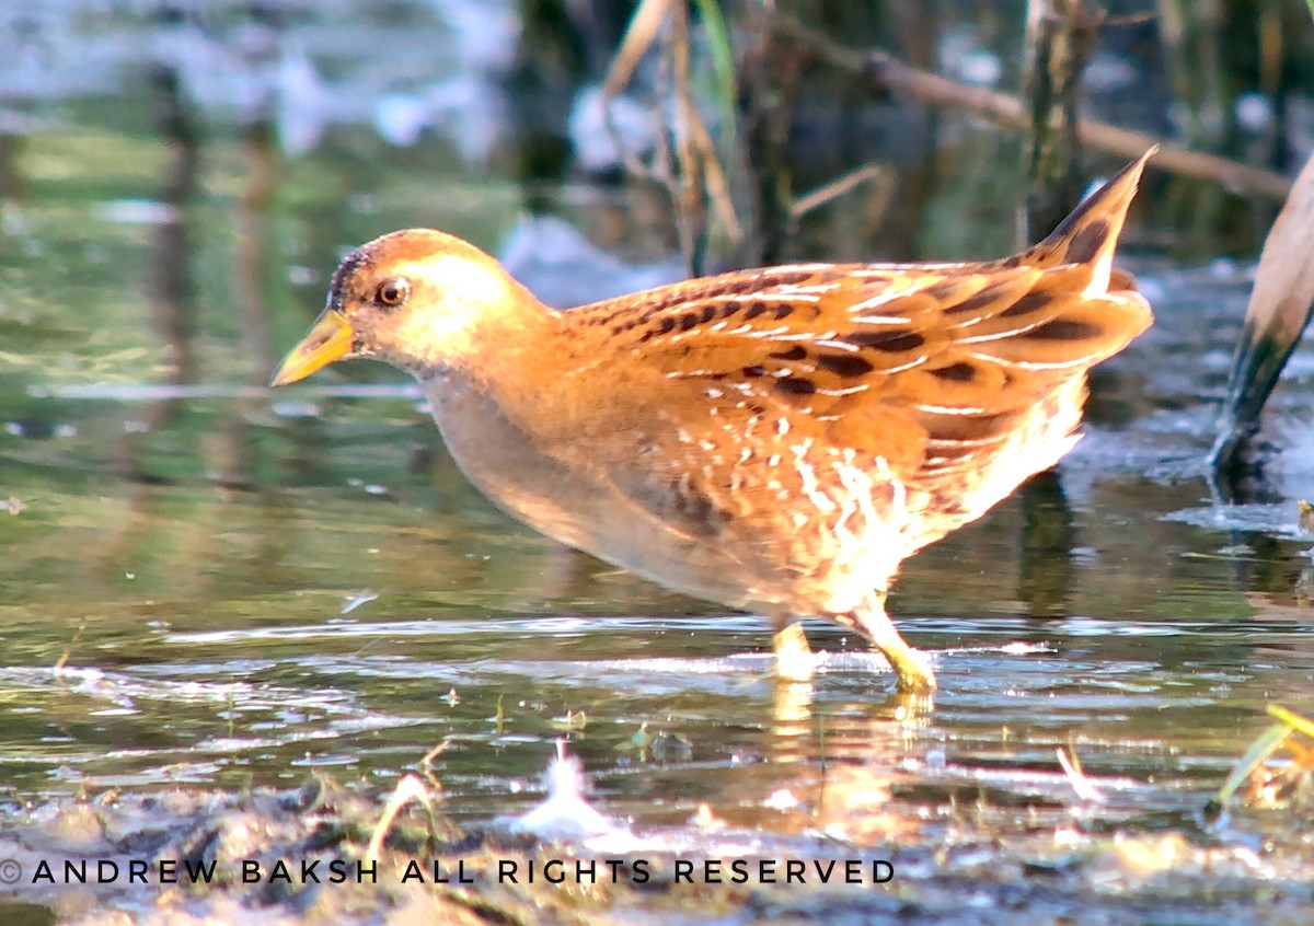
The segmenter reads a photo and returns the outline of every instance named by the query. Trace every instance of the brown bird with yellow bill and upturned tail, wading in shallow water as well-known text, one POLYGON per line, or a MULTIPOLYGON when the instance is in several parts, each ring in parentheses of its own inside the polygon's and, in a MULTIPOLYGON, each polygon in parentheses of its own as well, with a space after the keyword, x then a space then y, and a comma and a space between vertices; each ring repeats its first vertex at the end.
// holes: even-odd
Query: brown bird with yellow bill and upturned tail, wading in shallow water
POLYGON ((886 613, 900 563, 1077 440, 1087 370, 1151 322, 1113 267, 1147 151, 1039 244, 982 263, 792 263, 564 311, 431 229, 351 251, 271 385, 369 357, 418 380, 514 518, 771 621, 807 679, 825 619, 928 697, 886 613))

